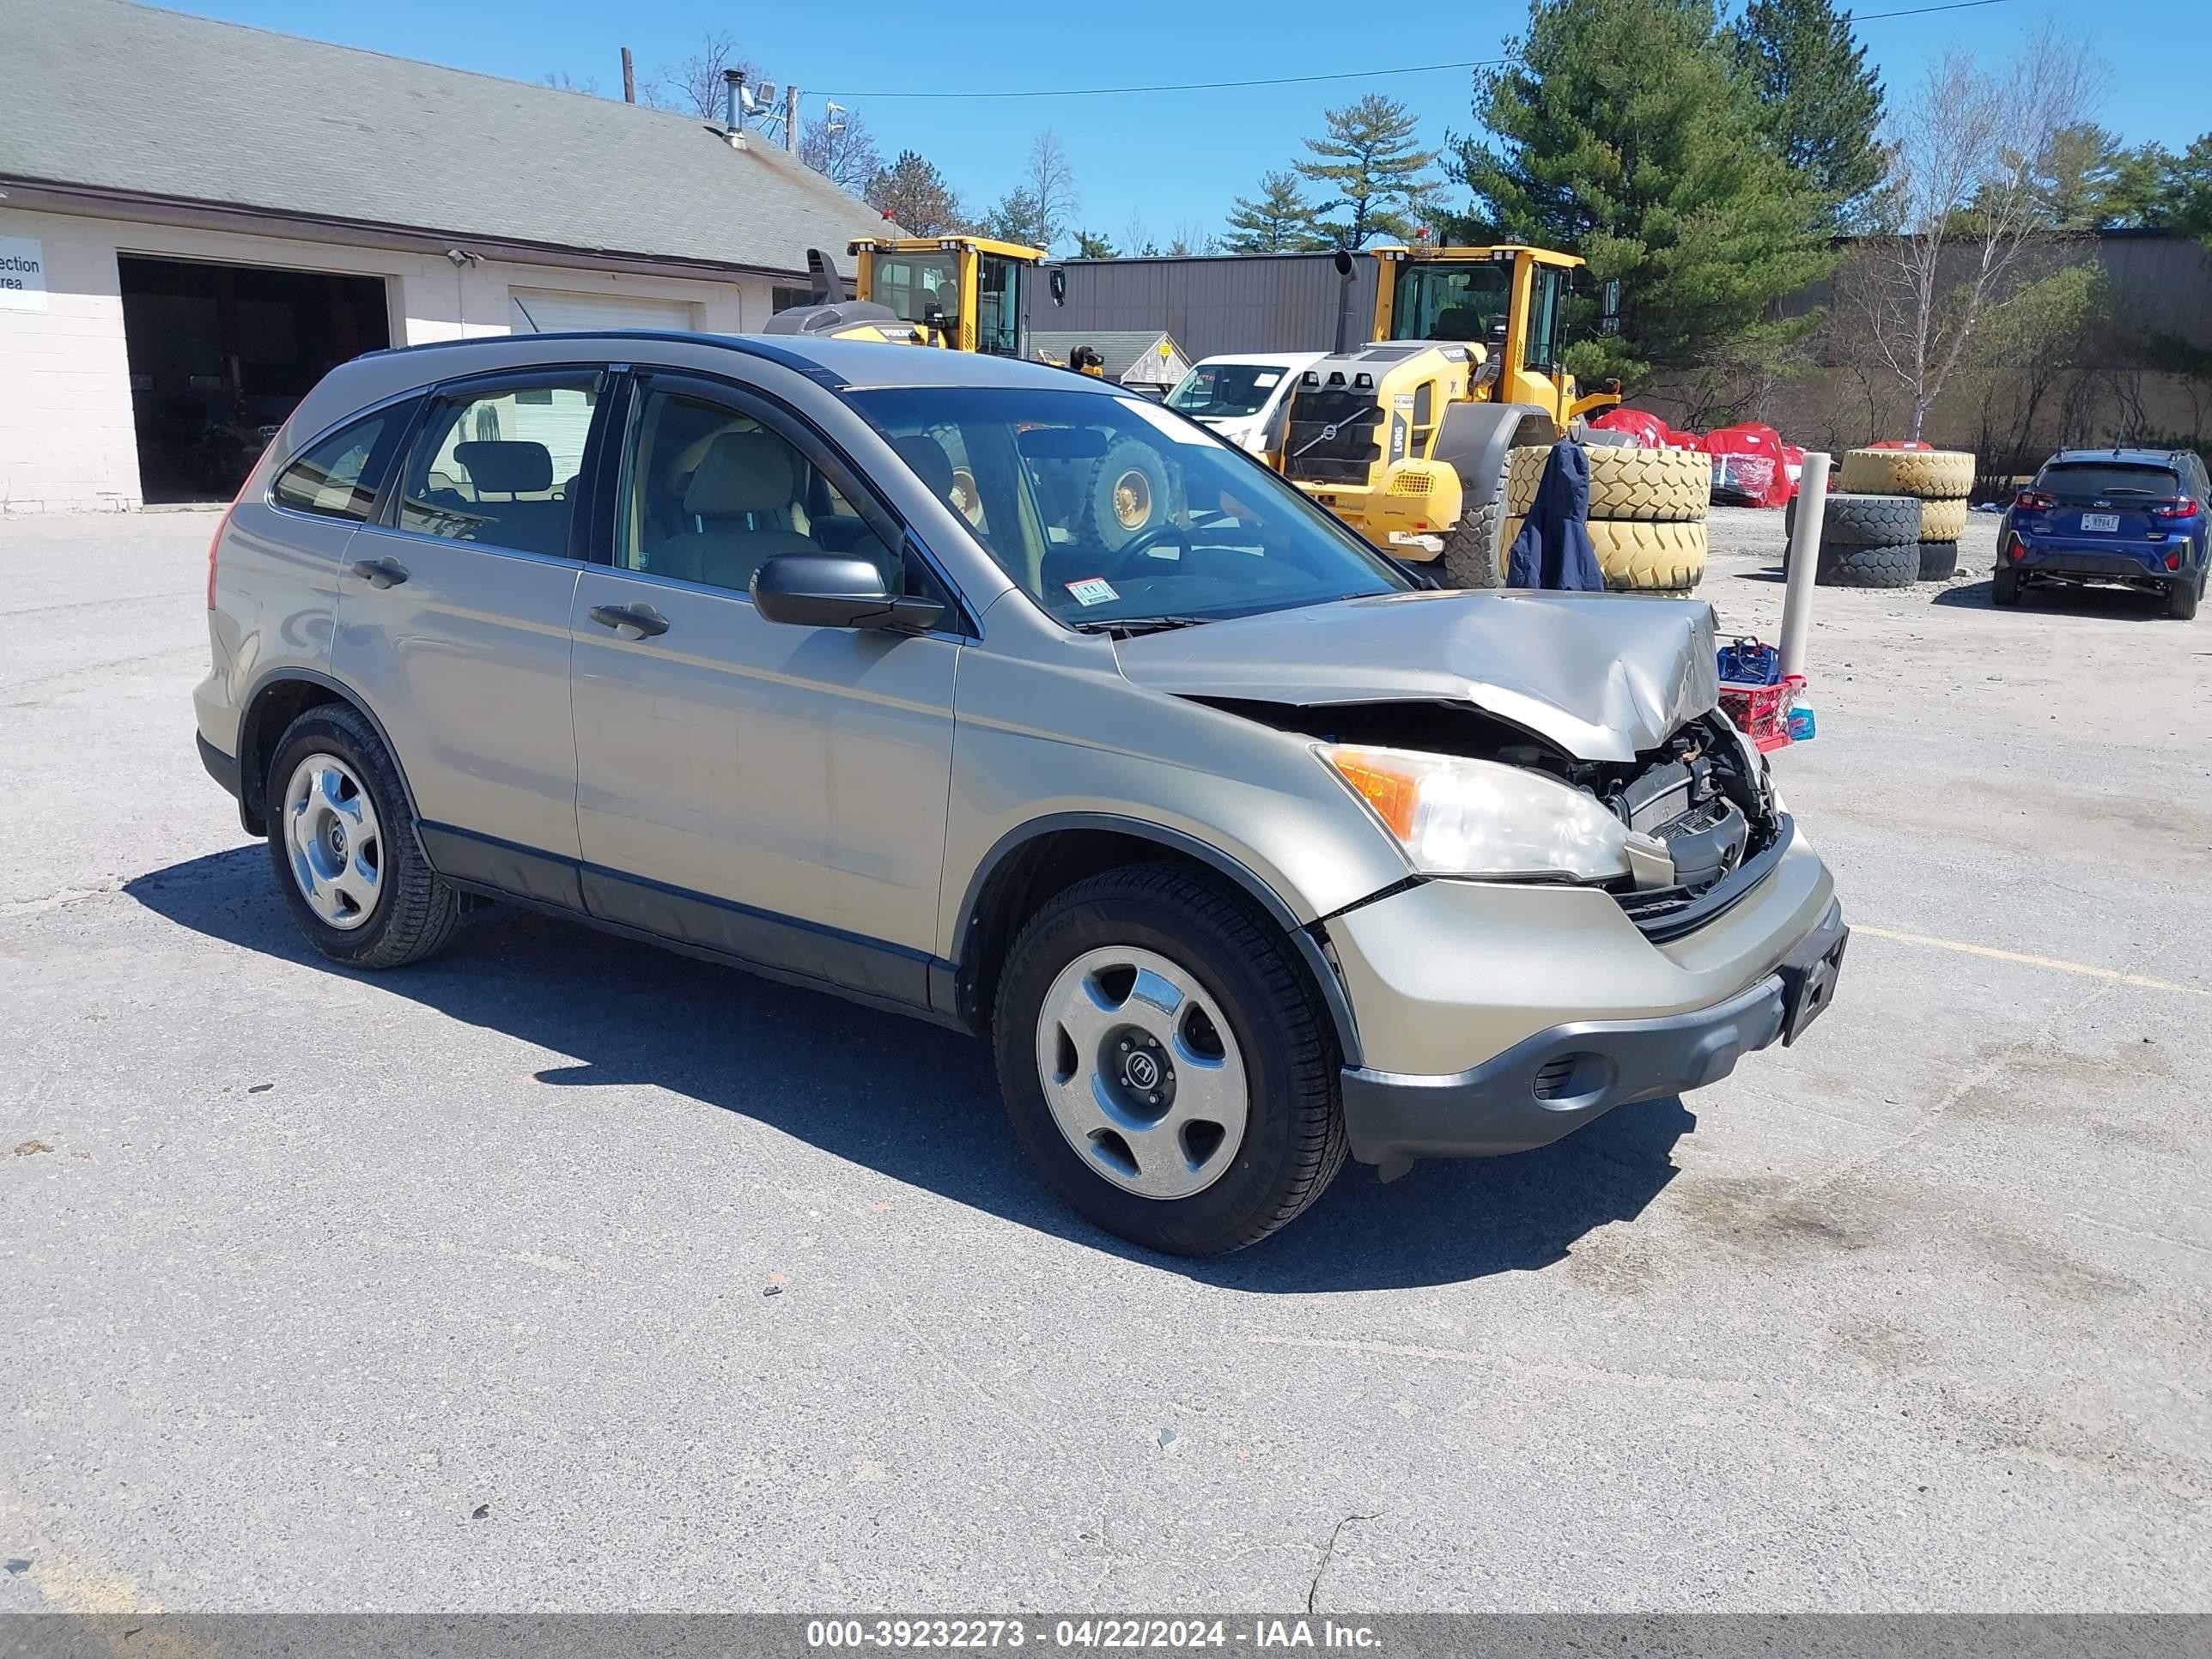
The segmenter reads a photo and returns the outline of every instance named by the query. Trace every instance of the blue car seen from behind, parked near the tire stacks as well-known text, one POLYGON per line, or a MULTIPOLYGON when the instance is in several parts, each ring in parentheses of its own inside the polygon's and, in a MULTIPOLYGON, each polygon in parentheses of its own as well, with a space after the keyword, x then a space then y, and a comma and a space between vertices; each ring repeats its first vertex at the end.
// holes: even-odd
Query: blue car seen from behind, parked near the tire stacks
POLYGON ((2119 582, 2188 622, 2212 568, 2212 482, 2188 449, 2062 449, 1997 526, 1991 599, 2031 582, 2119 582))

